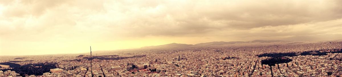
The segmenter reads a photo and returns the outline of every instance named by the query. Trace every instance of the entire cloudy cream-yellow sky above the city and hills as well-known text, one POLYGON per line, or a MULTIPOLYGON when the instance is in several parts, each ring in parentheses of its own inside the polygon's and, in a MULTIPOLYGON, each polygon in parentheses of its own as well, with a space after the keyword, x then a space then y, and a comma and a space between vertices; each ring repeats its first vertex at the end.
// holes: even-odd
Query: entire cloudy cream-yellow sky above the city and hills
POLYGON ((341 39, 342 0, 0 0, 0 55, 341 39))

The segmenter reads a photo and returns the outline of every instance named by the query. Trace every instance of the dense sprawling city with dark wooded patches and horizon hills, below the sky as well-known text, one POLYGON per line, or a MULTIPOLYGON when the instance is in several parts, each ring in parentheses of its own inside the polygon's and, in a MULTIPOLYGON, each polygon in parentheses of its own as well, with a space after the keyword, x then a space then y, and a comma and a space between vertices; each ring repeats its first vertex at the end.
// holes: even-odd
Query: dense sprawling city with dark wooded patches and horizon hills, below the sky
POLYGON ((341 46, 341 40, 255 40, 93 51, 92 57, 0 56, 0 77, 341 77, 341 46))

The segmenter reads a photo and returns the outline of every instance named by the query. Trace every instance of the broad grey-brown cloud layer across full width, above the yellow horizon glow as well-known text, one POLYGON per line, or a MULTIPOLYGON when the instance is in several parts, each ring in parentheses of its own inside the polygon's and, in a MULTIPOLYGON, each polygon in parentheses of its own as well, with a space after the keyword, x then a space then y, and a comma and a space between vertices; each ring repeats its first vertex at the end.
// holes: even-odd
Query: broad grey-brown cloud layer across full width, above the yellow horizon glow
POLYGON ((336 20, 342 17, 340 4, 335 1, 24 0, 4 2, 2 15, 5 21, 12 20, 9 25, 46 27, 87 23, 128 36, 174 36, 336 20), (43 21, 28 24, 32 16, 43 21))

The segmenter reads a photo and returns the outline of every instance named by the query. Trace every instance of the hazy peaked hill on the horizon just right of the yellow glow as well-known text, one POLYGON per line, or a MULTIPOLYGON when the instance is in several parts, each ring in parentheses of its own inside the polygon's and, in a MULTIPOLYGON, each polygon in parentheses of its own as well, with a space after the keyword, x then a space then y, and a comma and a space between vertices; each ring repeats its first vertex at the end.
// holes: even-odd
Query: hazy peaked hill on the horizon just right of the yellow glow
POLYGON ((159 46, 145 46, 142 48, 158 48, 158 49, 164 49, 164 48, 180 48, 180 47, 190 47, 194 46, 192 44, 182 44, 182 43, 170 43, 170 44, 164 44, 159 46))

